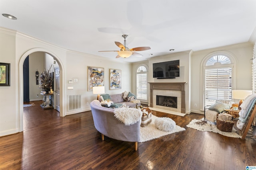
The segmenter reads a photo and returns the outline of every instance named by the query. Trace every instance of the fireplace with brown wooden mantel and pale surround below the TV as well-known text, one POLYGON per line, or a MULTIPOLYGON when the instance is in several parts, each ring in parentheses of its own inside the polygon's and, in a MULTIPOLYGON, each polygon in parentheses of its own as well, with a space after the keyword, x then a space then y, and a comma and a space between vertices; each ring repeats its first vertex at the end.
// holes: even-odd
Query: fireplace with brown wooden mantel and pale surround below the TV
MULTIPOLYGON (((175 83, 149 83, 150 84, 150 107, 156 107, 159 109, 165 109, 169 111, 176 111, 180 113, 186 113, 185 107, 185 84, 186 82, 175 82, 175 83), (176 105, 175 107, 169 106, 162 106, 159 104, 159 97, 158 97, 158 105, 157 96, 166 96, 166 103, 170 102, 172 104, 169 105, 176 105), (174 97, 170 98, 170 96, 174 97), (176 104, 175 104, 176 103, 176 104)), ((162 100, 162 99, 161 99, 162 100)), ((160 101, 161 102, 161 101, 160 101)))

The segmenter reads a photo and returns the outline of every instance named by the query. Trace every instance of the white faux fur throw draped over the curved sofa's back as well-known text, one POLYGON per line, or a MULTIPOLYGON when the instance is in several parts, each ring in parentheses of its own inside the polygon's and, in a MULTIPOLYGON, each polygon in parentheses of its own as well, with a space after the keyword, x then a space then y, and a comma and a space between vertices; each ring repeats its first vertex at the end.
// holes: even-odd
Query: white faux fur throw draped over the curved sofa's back
POLYGON ((114 116, 125 125, 133 125, 141 121, 142 111, 136 108, 121 107, 114 109, 114 116))

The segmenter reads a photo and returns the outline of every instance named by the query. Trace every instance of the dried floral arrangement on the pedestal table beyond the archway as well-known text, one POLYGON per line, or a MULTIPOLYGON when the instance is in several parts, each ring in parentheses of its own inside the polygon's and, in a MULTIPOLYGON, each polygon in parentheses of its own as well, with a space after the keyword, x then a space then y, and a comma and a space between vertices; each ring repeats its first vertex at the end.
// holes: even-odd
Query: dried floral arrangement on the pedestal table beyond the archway
POLYGON ((53 77, 50 74, 50 69, 46 70, 46 68, 44 68, 44 71, 41 72, 38 78, 39 88, 42 89, 42 91, 46 92, 46 94, 50 92, 53 82, 53 77))

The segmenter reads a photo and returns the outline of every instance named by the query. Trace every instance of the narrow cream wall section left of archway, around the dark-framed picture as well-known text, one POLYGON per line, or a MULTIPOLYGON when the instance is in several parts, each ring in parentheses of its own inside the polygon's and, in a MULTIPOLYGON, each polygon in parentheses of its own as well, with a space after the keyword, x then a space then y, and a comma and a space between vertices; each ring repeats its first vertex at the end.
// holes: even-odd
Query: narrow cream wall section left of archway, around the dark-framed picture
POLYGON ((0 29, 0 62, 10 63, 10 86, 0 86, 0 136, 16 133, 19 129, 15 36, 15 31, 0 29))

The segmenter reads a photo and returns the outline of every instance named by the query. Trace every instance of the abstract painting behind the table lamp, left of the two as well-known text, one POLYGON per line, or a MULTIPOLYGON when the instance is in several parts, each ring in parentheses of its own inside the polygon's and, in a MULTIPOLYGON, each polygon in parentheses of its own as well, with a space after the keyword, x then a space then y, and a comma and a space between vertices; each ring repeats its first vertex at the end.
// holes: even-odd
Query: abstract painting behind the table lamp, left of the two
POLYGON ((94 86, 104 86, 104 68, 87 66, 88 91, 94 86))

